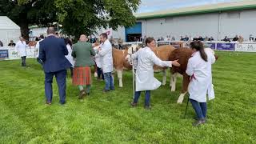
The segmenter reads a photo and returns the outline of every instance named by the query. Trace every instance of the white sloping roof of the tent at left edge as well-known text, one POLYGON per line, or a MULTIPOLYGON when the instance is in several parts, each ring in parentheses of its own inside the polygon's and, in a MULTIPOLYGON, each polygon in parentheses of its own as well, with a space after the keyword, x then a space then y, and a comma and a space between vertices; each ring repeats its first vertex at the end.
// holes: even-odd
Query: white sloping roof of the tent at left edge
POLYGON ((0 16, 0 30, 14 30, 20 27, 6 16, 0 16))

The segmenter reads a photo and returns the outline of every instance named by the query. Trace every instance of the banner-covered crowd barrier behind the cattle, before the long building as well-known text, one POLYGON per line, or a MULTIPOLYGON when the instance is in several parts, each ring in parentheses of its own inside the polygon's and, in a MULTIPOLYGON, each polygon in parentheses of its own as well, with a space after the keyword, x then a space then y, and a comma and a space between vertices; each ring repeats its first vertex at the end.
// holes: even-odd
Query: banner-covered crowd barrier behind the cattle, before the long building
MULTIPOLYGON (((212 41, 203 42, 206 47, 210 47, 213 50, 225 50, 225 51, 238 51, 238 52, 256 52, 256 42, 222 42, 212 41)), ((130 46, 133 44, 142 44, 142 42, 124 42, 123 46, 130 46)), ((172 45, 175 48, 189 47, 189 42, 182 41, 158 41, 157 46, 172 45)))

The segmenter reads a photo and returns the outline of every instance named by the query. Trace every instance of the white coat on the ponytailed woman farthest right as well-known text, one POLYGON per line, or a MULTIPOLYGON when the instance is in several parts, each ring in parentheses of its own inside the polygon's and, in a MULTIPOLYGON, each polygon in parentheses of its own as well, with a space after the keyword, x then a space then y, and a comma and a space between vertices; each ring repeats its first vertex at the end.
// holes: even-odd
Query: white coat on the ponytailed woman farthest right
POLYGON ((215 62, 214 54, 205 50, 208 62, 205 62, 197 51, 189 59, 186 74, 192 76, 188 86, 190 99, 198 102, 206 102, 206 95, 209 100, 214 99, 214 86, 212 84, 211 65, 215 62), (194 76, 193 76, 194 75, 194 76))

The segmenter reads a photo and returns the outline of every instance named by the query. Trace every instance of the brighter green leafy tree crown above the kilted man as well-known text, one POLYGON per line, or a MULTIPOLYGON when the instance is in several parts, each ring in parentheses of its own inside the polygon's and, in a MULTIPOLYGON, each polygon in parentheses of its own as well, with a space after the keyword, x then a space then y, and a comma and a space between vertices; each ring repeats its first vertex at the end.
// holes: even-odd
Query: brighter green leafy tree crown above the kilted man
POLYGON ((92 34, 99 27, 133 26, 140 0, 55 0, 66 34, 92 34))

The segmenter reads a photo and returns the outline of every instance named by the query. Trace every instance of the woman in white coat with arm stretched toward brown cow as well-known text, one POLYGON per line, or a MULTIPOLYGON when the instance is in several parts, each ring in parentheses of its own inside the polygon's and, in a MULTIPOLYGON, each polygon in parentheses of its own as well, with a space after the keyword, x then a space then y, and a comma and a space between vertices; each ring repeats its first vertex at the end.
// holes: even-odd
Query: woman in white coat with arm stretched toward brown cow
POLYGON ((131 106, 137 106, 141 92, 146 91, 145 108, 150 109, 150 90, 156 90, 161 86, 161 82, 154 78, 154 64, 162 67, 171 67, 172 65, 180 66, 178 60, 162 61, 158 58, 153 52, 155 45, 154 38, 146 38, 146 47, 131 55, 132 59, 138 61, 136 69, 136 91, 134 102, 131 103, 131 106))

